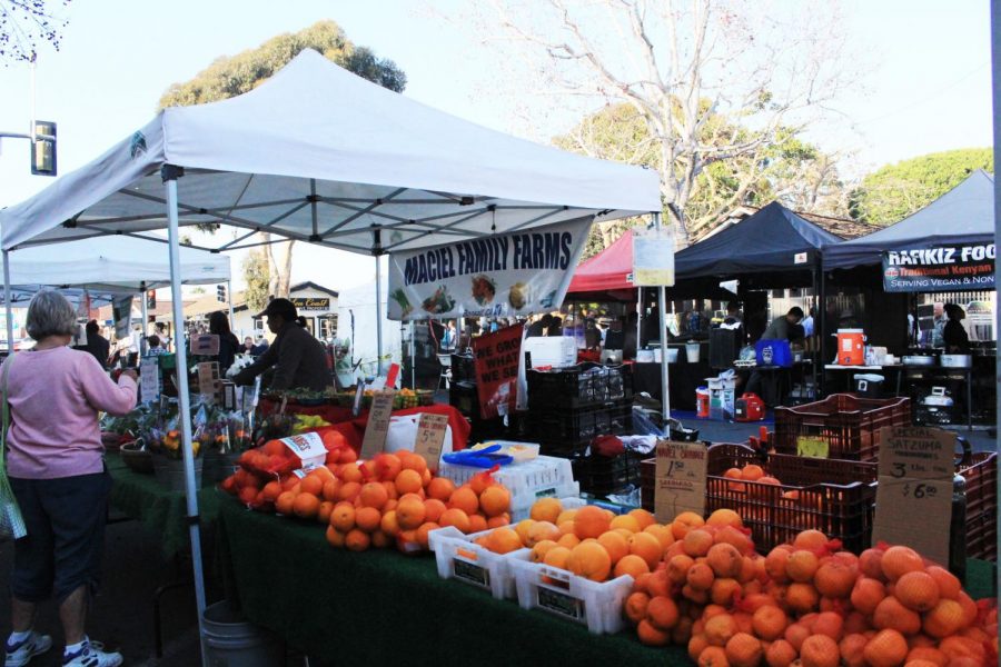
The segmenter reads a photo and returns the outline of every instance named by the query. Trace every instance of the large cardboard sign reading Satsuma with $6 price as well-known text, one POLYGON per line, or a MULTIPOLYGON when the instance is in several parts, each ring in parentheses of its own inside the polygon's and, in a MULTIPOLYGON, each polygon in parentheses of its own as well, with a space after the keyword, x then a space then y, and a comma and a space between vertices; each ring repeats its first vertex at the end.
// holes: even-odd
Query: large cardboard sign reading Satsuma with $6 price
POLYGON ((954 452, 955 435, 944 430, 882 429, 872 544, 906 545, 949 565, 954 452))

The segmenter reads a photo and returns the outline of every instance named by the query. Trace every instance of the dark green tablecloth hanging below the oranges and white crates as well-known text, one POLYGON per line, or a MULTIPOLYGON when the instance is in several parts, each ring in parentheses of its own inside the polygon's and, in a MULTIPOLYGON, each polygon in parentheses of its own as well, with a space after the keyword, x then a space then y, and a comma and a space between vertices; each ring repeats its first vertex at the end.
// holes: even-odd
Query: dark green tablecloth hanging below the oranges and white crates
MULTIPOLYGON (((219 508, 228 593, 248 620, 321 664, 688 665, 683 647, 651 648, 630 629, 592 635, 583 625, 460 581, 440 579, 433 555, 354 552, 327 544, 321 526, 219 508)), ((988 595, 989 564, 971 561, 968 589, 988 595)))

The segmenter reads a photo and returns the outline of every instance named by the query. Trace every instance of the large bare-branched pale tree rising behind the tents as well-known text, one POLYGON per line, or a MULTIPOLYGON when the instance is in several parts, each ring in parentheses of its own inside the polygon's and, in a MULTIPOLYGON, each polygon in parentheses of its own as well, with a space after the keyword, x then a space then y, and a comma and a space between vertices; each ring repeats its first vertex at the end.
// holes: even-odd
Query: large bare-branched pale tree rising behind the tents
MULTIPOLYGON (((625 102, 640 115, 680 247, 690 243, 698 222, 718 217, 702 211, 695 221, 687 213, 700 189, 713 187, 714 179, 701 175, 740 161, 729 175, 730 205, 742 203, 764 177, 765 153, 776 137, 799 133, 827 116, 858 79, 845 63, 840 10, 829 3, 792 9, 725 0, 490 4, 490 13, 470 10, 470 21, 495 47, 514 47, 506 63, 521 69, 522 87, 533 77, 535 92, 564 109, 574 100, 592 110, 596 102, 625 102)), ((632 161, 647 148, 623 147, 613 157, 632 161)))

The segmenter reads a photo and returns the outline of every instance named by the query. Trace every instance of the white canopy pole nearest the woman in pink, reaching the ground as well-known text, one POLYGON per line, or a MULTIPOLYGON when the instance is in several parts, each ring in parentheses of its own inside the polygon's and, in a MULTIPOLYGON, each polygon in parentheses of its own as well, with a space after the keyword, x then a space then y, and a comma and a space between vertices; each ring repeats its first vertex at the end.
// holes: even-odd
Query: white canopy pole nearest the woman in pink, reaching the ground
POLYGON ((185 315, 181 302, 180 243, 177 215, 177 179, 184 176, 179 167, 165 165, 161 169, 163 183, 167 187, 167 223, 170 243, 170 298, 174 308, 174 329, 177 341, 177 406, 178 421, 181 427, 181 448, 185 457, 185 490, 187 500, 187 520, 191 538, 191 569, 195 578, 195 605, 198 610, 198 629, 202 638, 201 664, 208 667, 204 637, 202 613, 205 611, 205 581, 201 569, 201 538, 198 526, 198 487, 195 486, 195 451, 191 447, 191 408, 188 396, 188 350, 185 345, 185 315))

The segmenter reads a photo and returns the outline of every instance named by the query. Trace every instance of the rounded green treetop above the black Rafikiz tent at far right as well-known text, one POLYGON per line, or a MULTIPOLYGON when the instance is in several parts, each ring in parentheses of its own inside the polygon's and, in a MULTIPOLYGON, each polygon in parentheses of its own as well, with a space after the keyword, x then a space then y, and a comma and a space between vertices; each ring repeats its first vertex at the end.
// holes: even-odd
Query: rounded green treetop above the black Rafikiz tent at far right
POLYGON ((872 225, 892 225, 928 206, 977 169, 994 171, 990 148, 948 150, 888 165, 862 179, 851 193, 851 216, 872 225))

